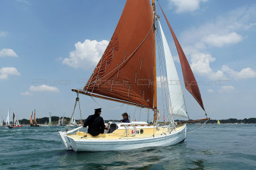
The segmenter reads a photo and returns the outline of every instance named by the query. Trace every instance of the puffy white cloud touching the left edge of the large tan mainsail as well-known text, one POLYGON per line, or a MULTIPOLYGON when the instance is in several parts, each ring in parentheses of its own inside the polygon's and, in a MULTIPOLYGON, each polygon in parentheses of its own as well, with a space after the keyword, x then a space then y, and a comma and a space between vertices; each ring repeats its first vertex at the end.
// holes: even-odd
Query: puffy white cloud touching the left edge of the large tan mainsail
POLYGON ((99 62, 100 57, 104 53, 109 41, 85 39, 83 43, 76 43, 76 50, 69 53, 69 57, 65 58, 62 63, 75 68, 92 68, 99 62))

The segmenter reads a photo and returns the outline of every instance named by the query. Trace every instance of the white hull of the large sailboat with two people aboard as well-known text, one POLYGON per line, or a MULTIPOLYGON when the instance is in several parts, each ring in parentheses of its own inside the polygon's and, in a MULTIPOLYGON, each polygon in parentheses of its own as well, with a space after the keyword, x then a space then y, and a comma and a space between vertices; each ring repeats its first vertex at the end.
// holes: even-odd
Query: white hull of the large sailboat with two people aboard
POLYGON ((76 152, 97 152, 109 150, 132 150, 137 148, 144 148, 150 146, 168 146, 175 145, 184 141, 186 138, 186 125, 179 131, 171 134, 163 134, 157 137, 148 138, 133 138, 133 139, 73 139, 67 136, 66 132, 59 132, 61 140, 66 146, 67 150, 74 150, 76 152))

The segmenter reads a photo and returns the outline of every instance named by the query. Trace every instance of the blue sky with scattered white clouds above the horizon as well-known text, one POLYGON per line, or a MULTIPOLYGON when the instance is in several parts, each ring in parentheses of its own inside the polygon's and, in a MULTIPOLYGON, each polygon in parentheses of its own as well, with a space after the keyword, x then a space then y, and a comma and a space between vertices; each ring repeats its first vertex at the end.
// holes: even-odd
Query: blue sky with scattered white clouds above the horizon
MULTIPOLYGON (((208 116, 255 117, 256 2, 159 2, 186 53, 208 116)), ((0 119, 6 119, 9 107, 20 119, 29 119, 35 109, 38 118, 49 112, 70 117, 76 99, 71 89, 83 87, 92 74, 124 5, 123 0, 1 0, 0 119)), ((157 13, 182 80, 177 51, 158 4, 157 13)), ((119 120, 125 111, 132 119, 147 120, 145 109, 79 97, 83 118, 103 106, 105 120, 119 120)), ((190 118, 204 118, 195 99, 186 91, 184 97, 190 118)), ((75 115, 80 117, 79 110, 75 115)))

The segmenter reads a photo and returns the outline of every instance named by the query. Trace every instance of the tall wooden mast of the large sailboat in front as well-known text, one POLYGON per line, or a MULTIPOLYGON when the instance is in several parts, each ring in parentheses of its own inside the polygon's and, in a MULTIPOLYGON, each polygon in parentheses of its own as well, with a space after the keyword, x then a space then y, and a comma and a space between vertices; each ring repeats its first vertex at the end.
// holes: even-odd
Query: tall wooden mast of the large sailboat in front
POLYGON ((154 38, 154 122, 156 122, 156 113, 157 113, 157 82, 156 82, 156 36, 155 36, 155 0, 152 0, 152 13, 153 13, 153 38, 154 38))

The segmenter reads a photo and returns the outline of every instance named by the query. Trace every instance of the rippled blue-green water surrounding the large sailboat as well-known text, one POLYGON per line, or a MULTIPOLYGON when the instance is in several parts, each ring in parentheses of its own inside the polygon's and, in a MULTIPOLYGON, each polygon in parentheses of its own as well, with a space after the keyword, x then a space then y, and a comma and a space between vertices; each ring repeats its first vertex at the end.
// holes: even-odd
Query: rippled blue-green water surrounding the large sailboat
POLYGON ((184 143, 124 152, 67 152, 60 130, 0 127, 0 169, 256 169, 256 124, 205 125, 184 143))

